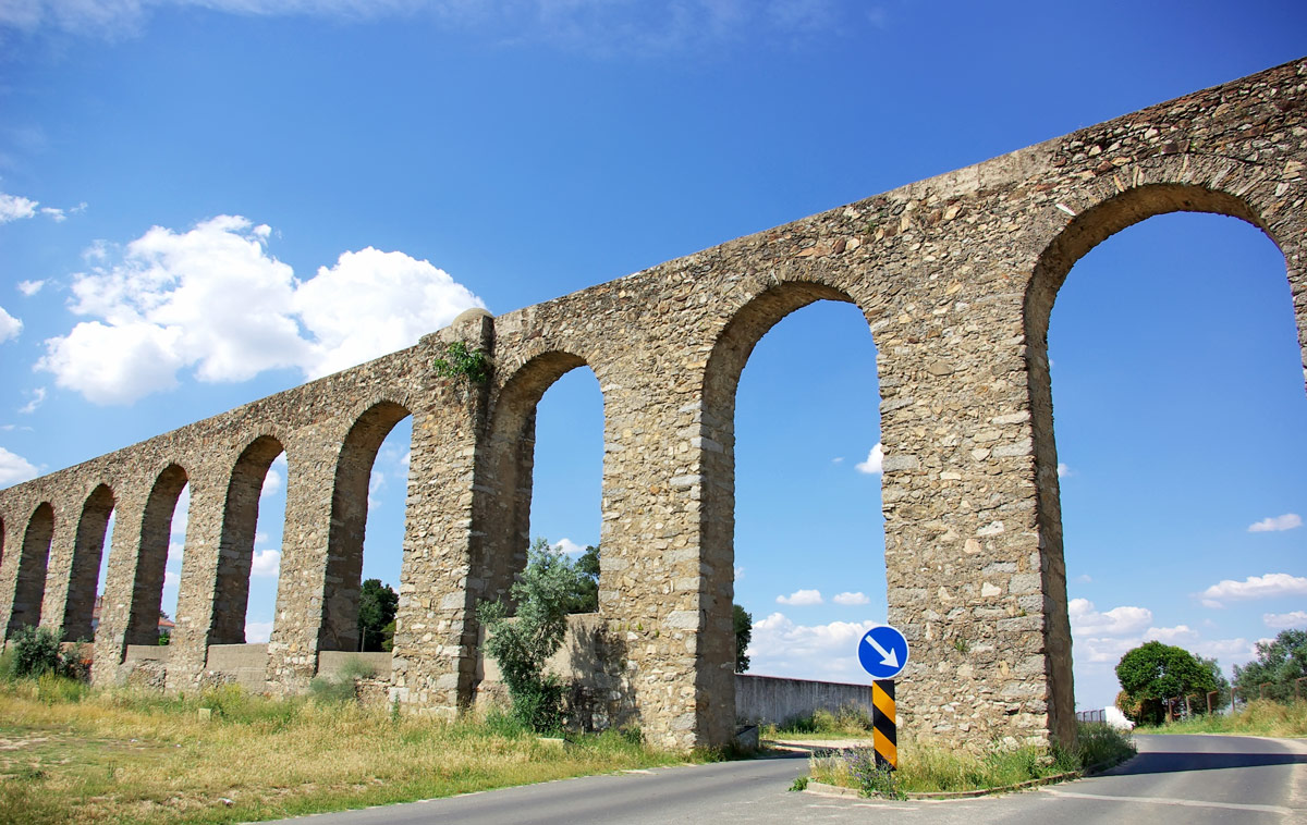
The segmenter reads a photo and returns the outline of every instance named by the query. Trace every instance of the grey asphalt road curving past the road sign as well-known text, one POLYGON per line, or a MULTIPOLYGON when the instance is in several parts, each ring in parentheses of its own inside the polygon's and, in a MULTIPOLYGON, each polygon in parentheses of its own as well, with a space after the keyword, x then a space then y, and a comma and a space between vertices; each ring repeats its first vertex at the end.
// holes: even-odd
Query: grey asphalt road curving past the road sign
POLYGON ((622 822, 988 822, 1307 825, 1307 740, 1137 736, 1140 756, 1106 774, 954 802, 789 792, 806 757, 586 777, 286 822, 467 825, 622 822))

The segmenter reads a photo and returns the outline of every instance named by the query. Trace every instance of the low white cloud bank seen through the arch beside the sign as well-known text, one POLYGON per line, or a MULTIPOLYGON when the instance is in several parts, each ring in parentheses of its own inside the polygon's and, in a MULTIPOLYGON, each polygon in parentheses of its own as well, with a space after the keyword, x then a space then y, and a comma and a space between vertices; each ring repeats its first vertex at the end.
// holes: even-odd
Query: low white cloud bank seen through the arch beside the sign
POLYGON ((753 625, 749 672, 865 683, 869 677, 857 663, 857 644, 873 627, 874 621, 800 625, 784 614, 771 614, 753 625))

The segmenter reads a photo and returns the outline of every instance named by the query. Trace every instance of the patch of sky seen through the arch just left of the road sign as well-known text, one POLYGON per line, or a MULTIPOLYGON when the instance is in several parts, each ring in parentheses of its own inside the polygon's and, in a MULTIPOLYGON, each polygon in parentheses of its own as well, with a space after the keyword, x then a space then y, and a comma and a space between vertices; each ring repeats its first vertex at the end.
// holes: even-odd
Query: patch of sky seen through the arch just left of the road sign
POLYGON ((735 602, 749 672, 865 681, 885 621, 876 347, 856 305, 819 300, 770 329, 736 393, 735 602))

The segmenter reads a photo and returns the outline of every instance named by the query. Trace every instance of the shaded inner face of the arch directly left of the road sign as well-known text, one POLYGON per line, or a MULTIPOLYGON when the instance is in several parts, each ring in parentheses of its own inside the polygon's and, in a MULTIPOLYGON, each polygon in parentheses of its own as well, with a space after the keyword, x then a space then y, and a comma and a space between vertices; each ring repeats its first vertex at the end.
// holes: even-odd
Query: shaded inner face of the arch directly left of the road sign
MULTIPOLYGON (((865 305, 844 288, 812 281, 787 281, 761 290, 740 305, 721 328, 708 355, 699 410, 702 435, 698 439, 703 478, 699 559, 707 573, 701 597, 704 627, 698 642, 701 664, 695 670, 695 680, 714 706, 735 708, 731 610, 735 599, 736 390, 745 364, 762 337, 786 316, 819 300, 859 305, 867 317, 865 305)), ((718 723, 733 723, 733 718, 718 723)))

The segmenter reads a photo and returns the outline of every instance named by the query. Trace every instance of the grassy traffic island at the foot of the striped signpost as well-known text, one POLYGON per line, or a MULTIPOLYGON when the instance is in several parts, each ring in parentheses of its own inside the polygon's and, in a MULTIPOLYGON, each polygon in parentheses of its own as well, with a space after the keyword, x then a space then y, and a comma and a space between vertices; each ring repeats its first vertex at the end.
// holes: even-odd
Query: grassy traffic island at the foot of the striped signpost
POLYGON ((975 791, 1006 787, 1086 768, 1115 765, 1134 755, 1128 735, 1106 724, 1081 724, 1076 745, 1065 748, 1001 748, 983 755, 907 740, 899 744, 899 769, 876 768, 868 748, 843 755, 816 755, 812 778, 856 788, 864 796, 975 791))

